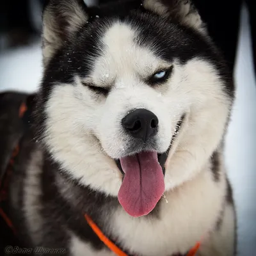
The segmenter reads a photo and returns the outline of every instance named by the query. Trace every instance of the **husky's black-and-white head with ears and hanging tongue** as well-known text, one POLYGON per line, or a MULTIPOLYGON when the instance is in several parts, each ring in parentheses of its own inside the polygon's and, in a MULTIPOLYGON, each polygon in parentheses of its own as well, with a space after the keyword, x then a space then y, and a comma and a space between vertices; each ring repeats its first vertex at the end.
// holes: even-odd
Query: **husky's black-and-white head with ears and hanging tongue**
POLYGON ((43 17, 45 145, 81 184, 148 214, 200 172, 227 124, 230 77, 198 13, 182 0, 51 0, 43 17))

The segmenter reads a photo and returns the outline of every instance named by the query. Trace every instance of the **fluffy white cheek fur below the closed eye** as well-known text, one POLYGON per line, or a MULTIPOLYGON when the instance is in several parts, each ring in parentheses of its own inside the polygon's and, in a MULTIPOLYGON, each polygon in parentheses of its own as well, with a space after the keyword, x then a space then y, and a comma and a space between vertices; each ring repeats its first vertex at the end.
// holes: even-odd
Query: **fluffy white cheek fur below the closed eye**
POLYGON ((121 173, 114 161, 102 152, 99 141, 93 135, 99 119, 100 103, 94 101, 90 104, 93 99, 89 94, 81 84, 54 86, 45 106, 44 142, 54 159, 71 177, 93 189, 116 196, 122 180, 121 173))

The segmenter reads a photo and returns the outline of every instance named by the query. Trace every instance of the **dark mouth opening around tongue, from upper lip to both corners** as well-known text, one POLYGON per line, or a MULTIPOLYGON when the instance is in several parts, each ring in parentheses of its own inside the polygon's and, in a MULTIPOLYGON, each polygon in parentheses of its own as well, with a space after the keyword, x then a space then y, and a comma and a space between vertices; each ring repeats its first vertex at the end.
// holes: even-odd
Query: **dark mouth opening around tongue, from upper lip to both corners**
MULTIPOLYGON (((160 164, 162 170, 163 170, 163 174, 165 174, 165 168, 164 168, 164 164, 166 162, 166 159, 168 157, 168 154, 170 152, 170 149, 172 148, 172 144, 175 140, 177 140, 177 137, 179 136, 179 132, 180 132, 180 129, 182 128, 182 125, 183 125, 183 122, 185 120, 185 116, 186 115, 182 115, 179 122, 177 122, 177 125, 175 127, 175 131, 174 131, 174 134, 172 136, 172 140, 171 140, 171 143, 168 147, 168 149, 165 151, 165 152, 162 152, 162 153, 158 153, 157 152, 157 159, 158 159, 158 163, 160 164)), ((154 150, 154 148, 148 148, 146 150, 137 150, 137 151, 134 151, 134 152, 131 152, 129 154, 127 154, 127 156, 137 156, 139 154, 141 154, 142 152, 156 152, 156 150, 154 150)), ((125 156, 126 157, 126 156, 125 156)), ((122 164, 120 162, 120 159, 115 159, 115 162, 116 162, 116 165, 118 166, 118 169, 120 170, 120 172, 124 175, 125 172, 122 168, 122 164)))

